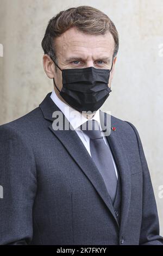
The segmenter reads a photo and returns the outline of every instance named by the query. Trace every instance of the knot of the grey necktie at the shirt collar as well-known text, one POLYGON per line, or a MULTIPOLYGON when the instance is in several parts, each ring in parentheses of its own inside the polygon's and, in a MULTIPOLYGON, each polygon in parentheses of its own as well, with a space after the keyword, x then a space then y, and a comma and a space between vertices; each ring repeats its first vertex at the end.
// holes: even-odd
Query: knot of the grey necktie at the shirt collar
POLYGON ((80 125, 80 129, 91 139, 102 138, 100 127, 96 120, 86 121, 83 125, 80 125))

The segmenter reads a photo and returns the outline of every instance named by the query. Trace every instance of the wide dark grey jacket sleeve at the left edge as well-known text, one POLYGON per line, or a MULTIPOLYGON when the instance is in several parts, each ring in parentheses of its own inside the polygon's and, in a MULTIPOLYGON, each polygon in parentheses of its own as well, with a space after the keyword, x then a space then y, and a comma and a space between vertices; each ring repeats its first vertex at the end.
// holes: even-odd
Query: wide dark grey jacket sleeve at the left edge
POLYGON ((35 161, 26 139, 15 130, 0 126, 1 245, 28 245, 33 236, 35 161))

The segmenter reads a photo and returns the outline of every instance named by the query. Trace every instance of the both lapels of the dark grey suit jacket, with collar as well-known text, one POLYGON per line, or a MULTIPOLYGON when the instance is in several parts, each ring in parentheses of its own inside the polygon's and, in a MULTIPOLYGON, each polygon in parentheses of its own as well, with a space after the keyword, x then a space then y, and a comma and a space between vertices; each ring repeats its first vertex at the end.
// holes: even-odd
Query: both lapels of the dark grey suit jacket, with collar
MULTIPOLYGON (((106 186, 104 184, 102 175, 99 173, 96 164, 92 161, 90 154, 87 152, 84 147, 82 141, 77 135, 76 131, 73 130, 72 126, 70 130, 54 130, 53 122, 55 118, 52 117, 54 111, 60 111, 60 109, 55 105, 50 97, 51 93, 48 93, 45 99, 39 105, 43 116, 45 119, 50 120, 51 123, 48 126, 49 129, 53 132, 54 136, 56 136, 62 145, 66 148, 68 153, 71 155, 72 159, 78 164, 80 169, 84 172, 87 178, 90 180, 93 187, 95 187, 99 196, 103 199, 103 202, 106 204, 108 209, 110 210, 114 220, 117 225, 117 218, 115 216, 115 211, 112 206, 112 202, 110 196, 108 195, 108 191, 106 190, 106 186)), ((104 123, 106 119, 106 115, 102 115, 102 111, 100 111, 101 124, 104 123), (104 120, 103 120, 104 116, 104 120)), ((64 116, 65 117, 65 116, 64 116)), ((65 117, 65 120, 68 120, 65 117)), ((70 124, 68 122, 68 124, 70 124)), ((124 225, 127 221, 129 206, 130 206, 130 193, 131 193, 131 184, 130 184, 130 170, 127 161, 127 156, 124 151, 123 145, 121 143, 121 136, 123 134, 120 133, 121 127, 118 127, 116 121, 113 121, 111 117, 111 126, 115 126, 117 128, 116 131, 112 131, 109 136, 107 136, 108 143, 110 145, 112 155, 116 161, 118 170, 120 172, 121 181, 122 181, 122 210, 121 210, 121 227, 120 232, 122 232, 124 225)), ((118 225, 119 227, 119 225, 118 225)))

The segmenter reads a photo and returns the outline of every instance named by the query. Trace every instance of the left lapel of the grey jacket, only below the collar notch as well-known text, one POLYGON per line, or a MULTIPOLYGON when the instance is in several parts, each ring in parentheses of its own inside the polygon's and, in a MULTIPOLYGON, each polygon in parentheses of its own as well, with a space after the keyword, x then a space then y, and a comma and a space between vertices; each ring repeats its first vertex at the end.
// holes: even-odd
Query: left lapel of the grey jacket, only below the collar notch
POLYGON ((104 200, 106 206, 108 206, 109 210, 111 211, 111 214, 115 217, 114 208, 108 195, 108 191, 106 190, 103 178, 99 173, 99 170, 97 169, 95 163, 92 161, 90 154, 87 152, 85 146, 77 135, 76 131, 54 131, 52 125, 49 125, 49 129, 59 139, 62 145, 64 145, 73 160, 82 169, 92 185, 95 187, 96 191, 104 200))

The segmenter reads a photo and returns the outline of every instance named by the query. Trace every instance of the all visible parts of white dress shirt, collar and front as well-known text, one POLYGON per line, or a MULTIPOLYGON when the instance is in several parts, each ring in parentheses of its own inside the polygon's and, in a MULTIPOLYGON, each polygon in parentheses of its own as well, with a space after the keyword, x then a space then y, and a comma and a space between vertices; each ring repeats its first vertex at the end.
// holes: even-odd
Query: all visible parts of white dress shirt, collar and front
MULTIPOLYGON (((52 90, 52 93, 51 93, 51 99, 54 101, 55 105, 57 105, 59 107, 61 112, 64 113, 65 117, 70 122, 73 129, 77 132, 77 135, 79 136, 79 138, 83 142, 86 150, 88 151, 88 153, 91 156, 90 138, 82 130, 79 129, 79 126, 84 124, 88 119, 86 117, 84 117, 84 115, 82 113, 80 113, 76 109, 72 108, 71 106, 68 106, 65 102, 61 101, 59 99, 59 97, 57 96, 57 94, 55 93, 54 89, 52 90)), ((99 118, 99 109, 96 111, 95 115, 93 115, 92 119, 96 120, 98 122, 99 127, 101 129, 101 123, 100 123, 100 118, 99 118)), ((101 133, 103 135, 102 129, 101 129, 101 133)), ((108 141, 106 140, 105 136, 103 136, 103 139, 104 139, 105 144, 109 147, 108 141)), ((112 154, 111 154, 111 156, 112 156, 112 154)), ((118 178, 116 164, 115 164, 113 157, 112 157, 112 161, 114 164, 116 176, 118 178)))

